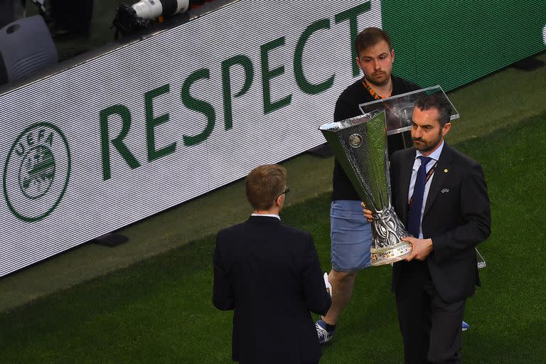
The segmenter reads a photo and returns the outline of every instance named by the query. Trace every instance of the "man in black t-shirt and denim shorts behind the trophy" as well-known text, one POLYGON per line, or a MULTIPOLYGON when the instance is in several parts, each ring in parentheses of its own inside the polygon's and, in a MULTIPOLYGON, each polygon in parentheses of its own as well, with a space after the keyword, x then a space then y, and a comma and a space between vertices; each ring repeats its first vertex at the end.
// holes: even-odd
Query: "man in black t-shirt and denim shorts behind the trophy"
MULTIPOLYGON (((358 105, 391 95, 419 90, 421 87, 391 75, 395 51, 390 38, 379 28, 366 28, 355 41, 356 62, 364 76, 349 85, 339 96, 334 121, 355 117, 362 112, 358 105)), ((387 138, 389 154, 402 149, 401 135, 387 138)), ((333 337, 341 311, 353 294, 358 271, 370 267, 371 225, 364 218, 360 197, 336 159, 333 168, 333 193, 330 210, 332 270, 332 306, 326 316, 316 322, 321 343, 333 337)))

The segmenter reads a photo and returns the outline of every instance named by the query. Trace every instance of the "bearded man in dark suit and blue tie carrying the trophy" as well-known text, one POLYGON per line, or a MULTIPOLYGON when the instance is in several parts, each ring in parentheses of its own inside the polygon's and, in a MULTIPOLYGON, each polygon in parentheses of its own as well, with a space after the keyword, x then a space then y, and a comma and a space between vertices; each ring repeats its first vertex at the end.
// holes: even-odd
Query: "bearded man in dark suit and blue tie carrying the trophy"
POLYGON ((407 364, 461 363, 466 299, 480 284, 475 247, 491 232, 481 166, 444 141, 450 114, 439 94, 417 100, 414 148, 396 151, 390 164, 392 202, 413 235, 403 239, 411 254, 392 270, 407 364))

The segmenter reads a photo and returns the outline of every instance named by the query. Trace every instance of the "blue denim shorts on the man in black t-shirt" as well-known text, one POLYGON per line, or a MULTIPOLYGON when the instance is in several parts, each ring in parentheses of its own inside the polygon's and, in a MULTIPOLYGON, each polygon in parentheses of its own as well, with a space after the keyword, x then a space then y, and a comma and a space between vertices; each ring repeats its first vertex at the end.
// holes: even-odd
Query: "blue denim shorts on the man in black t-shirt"
POLYGON ((370 267, 372 225, 364 217, 360 201, 332 201, 330 237, 333 270, 355 272, 370 267))

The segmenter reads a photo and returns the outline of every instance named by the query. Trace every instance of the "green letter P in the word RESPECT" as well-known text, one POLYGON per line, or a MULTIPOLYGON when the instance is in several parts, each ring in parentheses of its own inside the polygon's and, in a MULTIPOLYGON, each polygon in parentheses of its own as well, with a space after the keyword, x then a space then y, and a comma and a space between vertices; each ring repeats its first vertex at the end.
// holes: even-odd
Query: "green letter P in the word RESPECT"
POLYGON ((229 130, 233 127, 233 112, 231 103, 231 77, 230 70, 234 65, 242 66, 245 70, 245 84, 233 97, 240 97, 250 90, 254 78, 254 69, 252 61, 246 55, 235 55, 222 62, 222 93, 224 99, 224 127, 229 130))

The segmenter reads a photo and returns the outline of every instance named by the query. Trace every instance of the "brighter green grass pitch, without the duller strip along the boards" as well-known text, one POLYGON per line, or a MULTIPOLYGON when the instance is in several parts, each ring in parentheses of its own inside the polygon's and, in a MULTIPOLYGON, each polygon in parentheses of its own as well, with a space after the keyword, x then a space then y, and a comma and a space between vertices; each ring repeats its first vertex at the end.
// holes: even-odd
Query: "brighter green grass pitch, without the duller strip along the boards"
MULTIPOLYGON (((465 315, 465 363, 546 362, 545 125, 540 114, 454 145, 483 165, 493 213, 479 247, 483 287, 465 315)), ((282 213, 312 232, 324 270, 328 209, 323 193, 282 213)), ((0 363, 230 363, 232 314, 210 302, 213 248, 210 236, 0 313, 0 363)), ((390 266, 360 273, 321 363, 401 363, 389 287, 390 266)))

